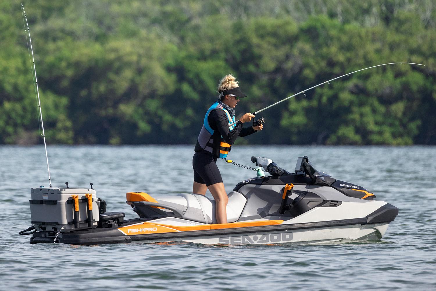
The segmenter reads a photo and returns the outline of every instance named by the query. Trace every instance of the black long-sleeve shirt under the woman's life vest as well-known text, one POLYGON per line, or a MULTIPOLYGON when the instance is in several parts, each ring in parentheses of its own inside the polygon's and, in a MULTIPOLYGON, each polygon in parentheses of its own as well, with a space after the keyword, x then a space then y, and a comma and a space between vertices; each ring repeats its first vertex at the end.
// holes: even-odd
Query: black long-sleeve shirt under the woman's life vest
MULTIPOLYGON (((235 128, 233 130, 229 129, 228 126, 228 118, 225 112, 222 109, 214 109, 209 113, 208 122, 212 130, 214 130, 214 134, 212 138, 214 140, 213 154, 215 157, 219 157, 220 151, 220 140, 221 137, 224 138, 225 142, 228 144, 234 144, 236 138, 246 137, 247 135, 255 133, 257 130, 254 130, 253 127, 243 127, 244 123, 238 121, 235 124, 235 128)), ((195 151, 200 152, 204 151, 200 144, 195 145, 195 151)))

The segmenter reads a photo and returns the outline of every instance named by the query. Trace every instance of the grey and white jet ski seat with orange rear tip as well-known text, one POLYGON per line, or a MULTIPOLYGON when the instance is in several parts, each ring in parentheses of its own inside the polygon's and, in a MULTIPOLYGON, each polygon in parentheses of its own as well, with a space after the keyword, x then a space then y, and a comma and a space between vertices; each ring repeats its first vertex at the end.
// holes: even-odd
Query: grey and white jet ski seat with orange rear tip
MULTIPOLYGON (((157 219, 173 216, 199 223, 217 223, 215 218, 215 201, 205 195, 182 193, 176 196, 151 197, 143 192, 126 194, 127 204, 135 207, 135 211, 143 218, 157 219)), ((227 222, 239 219, 247 199, 239 192, 228 194, 227 222)))

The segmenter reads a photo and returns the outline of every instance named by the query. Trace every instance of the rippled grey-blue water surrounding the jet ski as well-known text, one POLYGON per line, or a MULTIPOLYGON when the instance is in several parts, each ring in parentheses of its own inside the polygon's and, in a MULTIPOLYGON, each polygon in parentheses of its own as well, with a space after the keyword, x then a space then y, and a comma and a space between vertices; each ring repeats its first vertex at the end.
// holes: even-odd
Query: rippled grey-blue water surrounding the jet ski
MULTIPOLYGON (((53 186, 94 184, 107 211, 136 217, 126 192, 192 190, 193 146, 49 146, 53 186)), ((397 206, 379 242, 209 246, 29 244, 30 188, 48 186, 44 147, 0 146, 1 290, 435 290, 436 147, 238 146, 229 158, 272 158, 320 171, 397 206)), ((254 171, 218 161, 229 192, 254 171)), ((211 197, 210 194, 208 194, 211 197)))

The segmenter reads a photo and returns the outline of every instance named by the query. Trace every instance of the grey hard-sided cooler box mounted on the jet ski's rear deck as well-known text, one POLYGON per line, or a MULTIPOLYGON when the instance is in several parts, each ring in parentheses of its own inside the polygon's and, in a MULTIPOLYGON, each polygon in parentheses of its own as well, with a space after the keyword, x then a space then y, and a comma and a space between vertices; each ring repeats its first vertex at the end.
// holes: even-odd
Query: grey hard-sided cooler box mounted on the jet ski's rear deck
POLYGON ((99 206, 95 190, 86 188, 31 188, 30 212, 32 224, 38 231, 55 231, 96 227, 99 221, 99 206), (92 210, 88 211, 85 194, 92 195, 92 210), (78 195, 78 223, 74 221, 74 199, 78 195), (88 213, 92 217, 88 217, 88 213), (91 221, 90 221, 91 220, 91 221))

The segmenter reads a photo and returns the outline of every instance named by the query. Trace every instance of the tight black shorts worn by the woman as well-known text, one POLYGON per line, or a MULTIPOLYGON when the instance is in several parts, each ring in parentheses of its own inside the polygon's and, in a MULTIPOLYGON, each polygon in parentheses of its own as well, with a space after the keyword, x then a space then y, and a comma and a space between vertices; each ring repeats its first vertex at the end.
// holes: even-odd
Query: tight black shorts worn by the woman
POLYGON ((194 181, 206 184, 206 186, 222 183, 221 173, 218 170, 216 161, 217 158, 209 152, 196 152, 192 158, 194 181))

